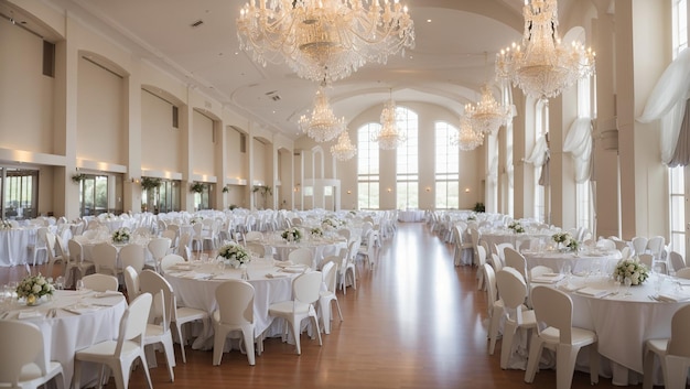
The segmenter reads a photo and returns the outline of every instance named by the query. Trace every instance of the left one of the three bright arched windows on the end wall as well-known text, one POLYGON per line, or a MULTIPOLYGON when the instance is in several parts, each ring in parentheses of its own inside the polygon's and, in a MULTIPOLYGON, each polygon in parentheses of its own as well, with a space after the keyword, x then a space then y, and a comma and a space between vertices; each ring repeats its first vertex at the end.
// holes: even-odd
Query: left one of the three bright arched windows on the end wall
POLYGON ((357 130, 357 208, 379 207, 378 142, 371 141, 379 123, 367 123, 357 130))

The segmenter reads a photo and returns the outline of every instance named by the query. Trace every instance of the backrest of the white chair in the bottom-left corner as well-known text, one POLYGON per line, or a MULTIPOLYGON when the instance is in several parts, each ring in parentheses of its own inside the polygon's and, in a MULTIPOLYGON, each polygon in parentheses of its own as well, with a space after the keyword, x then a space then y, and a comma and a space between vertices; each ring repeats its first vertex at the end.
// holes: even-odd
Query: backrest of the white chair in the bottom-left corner
POLYGON ((21 321, 0 321, 0 382, 18 388, 22 367, 36 364, 46 374, 43 353, 43 334, 33 324, 21 321))

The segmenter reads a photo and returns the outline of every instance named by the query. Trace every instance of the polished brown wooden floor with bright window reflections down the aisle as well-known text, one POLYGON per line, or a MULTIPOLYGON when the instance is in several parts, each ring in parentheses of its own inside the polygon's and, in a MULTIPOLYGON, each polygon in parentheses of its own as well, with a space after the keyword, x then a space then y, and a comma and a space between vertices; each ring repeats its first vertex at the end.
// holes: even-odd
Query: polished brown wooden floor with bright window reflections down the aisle
MULTIPOLYGON (((42 268, 42 267, 40 267, 42 268)), ((302 355, 280 339, 267 339, 265 353, 249 366, 233 350, 220 366, 212 352, 187 349, 182 364, 176 347, 175 381, 164 358, 151 369, 155 388, 556 388, 553 370, 540 371, 535 383, 525 371, 502 370, 487 353, 485 293, 477 292, 475 269, 455 268, 452 248, 423 224, 400 224, 385 242, 379 263, 359 267, 357 290, 338 294, 344 322, 317 341, 302 335, 302 355)), ((22 268, 0 269, 0 284, 20 279, 22 268)), ((114 380, 109 388, 115 388, 114 380)), ((601 378, 597 388, 613 388, 601 378)), ((130 388, 145 388, 141 369, 130 388)), ((591 388, 589 375, 575 372, 572 388, 591 388)))

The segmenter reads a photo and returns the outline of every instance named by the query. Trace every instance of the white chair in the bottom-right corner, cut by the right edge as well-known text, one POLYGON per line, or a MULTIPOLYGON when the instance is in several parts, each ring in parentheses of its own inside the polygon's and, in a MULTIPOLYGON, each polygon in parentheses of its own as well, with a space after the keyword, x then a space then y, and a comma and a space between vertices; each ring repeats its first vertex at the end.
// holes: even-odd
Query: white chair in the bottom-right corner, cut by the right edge
POLYGON ((654 378, 654 356, 659 357, 664 374, 664 387, 683 389, 690 368, 690 305, 684 305, 671 318, 671 337, 647 339, 644 348, 643 389, 651 389, 654 378))

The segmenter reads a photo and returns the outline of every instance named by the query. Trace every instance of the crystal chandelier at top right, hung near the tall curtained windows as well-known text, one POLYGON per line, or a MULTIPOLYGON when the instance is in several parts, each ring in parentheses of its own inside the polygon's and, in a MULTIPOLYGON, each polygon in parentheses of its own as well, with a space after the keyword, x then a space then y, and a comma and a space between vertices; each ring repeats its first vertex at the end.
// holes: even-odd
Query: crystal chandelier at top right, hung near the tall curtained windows
POLYGON ((525 95, 548 99, 594 74, 591 48, 585 50, 580 42, 570 47, 561 44, 556 0, 526 0, 522 15, 522 43, 497 54, 497 77, 511 80, 525 95))

